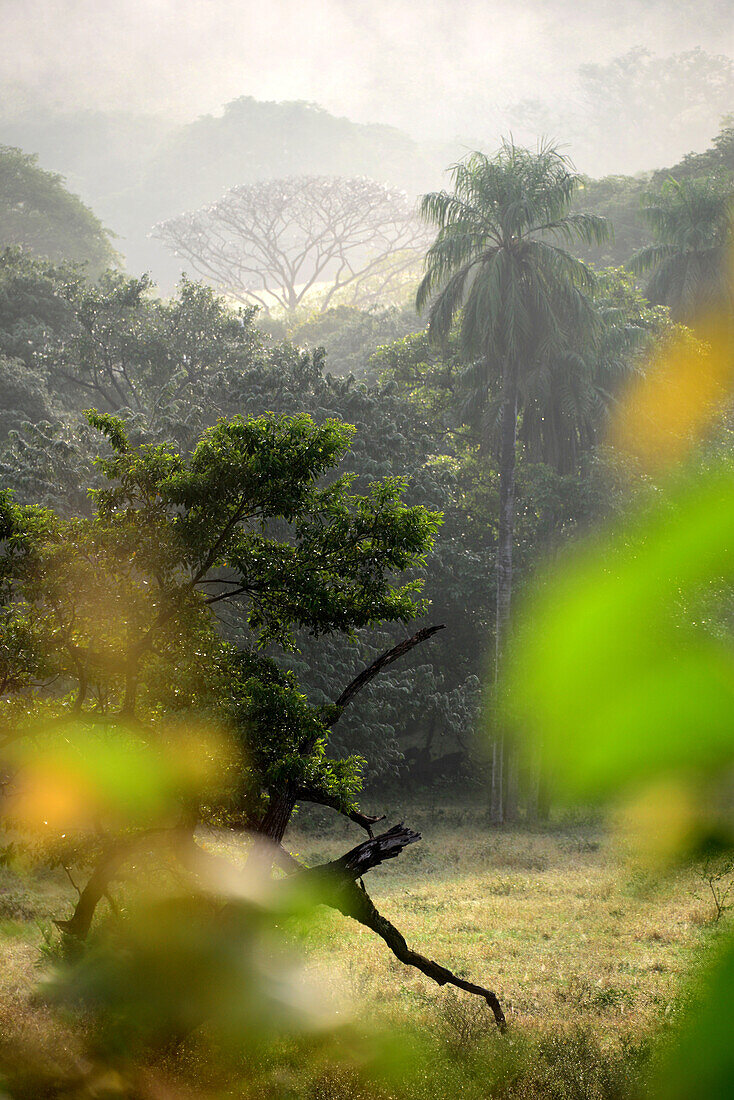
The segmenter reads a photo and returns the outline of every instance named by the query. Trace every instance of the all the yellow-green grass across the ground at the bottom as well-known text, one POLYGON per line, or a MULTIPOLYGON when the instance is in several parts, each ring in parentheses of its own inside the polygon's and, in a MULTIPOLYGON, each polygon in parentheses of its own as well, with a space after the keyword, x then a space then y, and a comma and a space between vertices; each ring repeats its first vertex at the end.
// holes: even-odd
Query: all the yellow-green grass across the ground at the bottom
MULTIPOLYGON (((256 1072, 250 1067, 247 1088, 240 1079, 228 1091, 195 1094, 627 1096, 647 1036, 675 1016, 693 961, 727 923, 715 925, 694 871, 654 881, 621 859, 598 824, 493 829, 481 803, 456 796, 403 801, 399 813, 387 809, 388 824, 405 817, 424 838, 371 872, 365 884, 410 946, 496 991, 513 1038, 496 1038, 476 998, 439 989, 394 959, 368 930, 319 910, 316 921, 291 927, 308 968, 358 1032, 369 1025, 386 1034, 406 1026, 423 1033, 431 1045, 420 1080, 412 1079, 409 1092, 394 1082, 377 1087, 364 1067, 354 1068, 351 1054, 317 1056, 294 1040, 263 1056, 256 1072), (494 1074, 489 1092, 487 1067, 494 1074)), ((357 827, 315 809, 297 816, 288 836, 309 862, 361 839, 357 827)), ((205 843, 242 857, 234 834, 211 834, 205 843)), ((68 915, 73 902, 61 871, 22 880, 0 871, 0 1015, 24 1021, 41 1042, 51 1018, 33 999, 39 964, 52 917, 68 915)), ((62 1046, 70 1049, 75 1042, 67 1035, 62 1046)), ((175 1072, 198 1080, 204 1062, 191 1057, 175 1072)), ((41 1096, 36 1085, 10 1094, 34 1097, 34 1088, 41 1096)))

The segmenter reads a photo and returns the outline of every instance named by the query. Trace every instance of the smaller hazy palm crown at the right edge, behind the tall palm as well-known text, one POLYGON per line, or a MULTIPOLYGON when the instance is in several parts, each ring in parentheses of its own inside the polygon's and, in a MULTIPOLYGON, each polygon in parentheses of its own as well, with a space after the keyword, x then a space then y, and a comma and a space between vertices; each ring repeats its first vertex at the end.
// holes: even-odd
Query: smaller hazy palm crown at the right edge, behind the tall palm
POLYGON ((653 272, 647 296, 689 321, 725 296, 726 249, 731 241, 731 180, 669 179, 643 209, 655 243, 632 258, 632 270, 653 272))

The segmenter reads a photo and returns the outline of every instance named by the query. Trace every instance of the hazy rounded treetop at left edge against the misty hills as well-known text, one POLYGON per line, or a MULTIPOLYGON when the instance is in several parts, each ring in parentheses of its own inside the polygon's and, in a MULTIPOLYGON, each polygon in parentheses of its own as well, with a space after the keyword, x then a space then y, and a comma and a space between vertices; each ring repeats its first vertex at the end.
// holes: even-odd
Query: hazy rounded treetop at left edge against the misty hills
POLYGON ((0 248, 7 246, 86 264, 91 275, 116 260, 109 232, 61 176, 40 168, 37 157, 0 145, 0 248))

